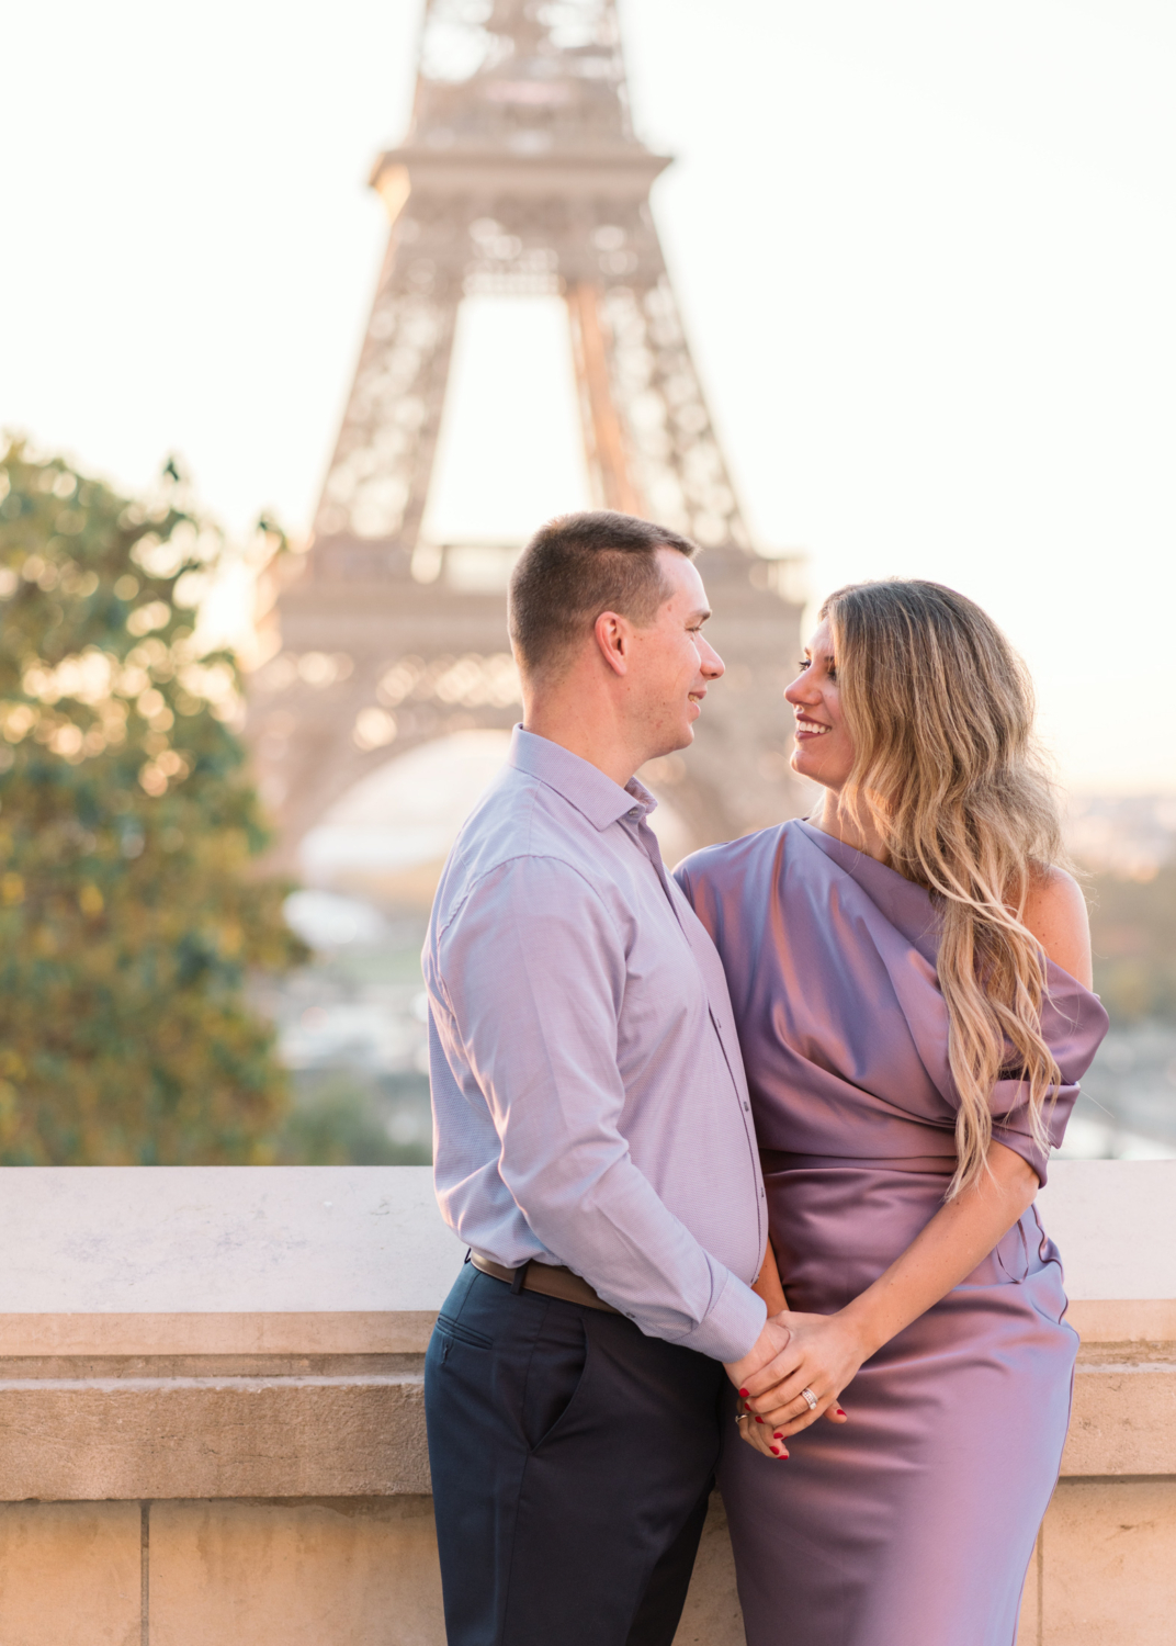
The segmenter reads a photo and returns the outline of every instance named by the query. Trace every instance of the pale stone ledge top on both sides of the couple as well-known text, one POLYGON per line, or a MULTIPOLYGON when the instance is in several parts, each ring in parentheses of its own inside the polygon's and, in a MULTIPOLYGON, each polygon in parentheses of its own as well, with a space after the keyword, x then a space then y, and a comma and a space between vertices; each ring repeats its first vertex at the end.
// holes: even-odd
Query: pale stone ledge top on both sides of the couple
MULTIPOLYGON (((1176 1340, 1176 1160, 1038 1203, 1084 1338, 1176 1340)), ((464 1258, 428 1167, 5 1167, 0 1249, 0 1355, 416 1353, 464 1258)))

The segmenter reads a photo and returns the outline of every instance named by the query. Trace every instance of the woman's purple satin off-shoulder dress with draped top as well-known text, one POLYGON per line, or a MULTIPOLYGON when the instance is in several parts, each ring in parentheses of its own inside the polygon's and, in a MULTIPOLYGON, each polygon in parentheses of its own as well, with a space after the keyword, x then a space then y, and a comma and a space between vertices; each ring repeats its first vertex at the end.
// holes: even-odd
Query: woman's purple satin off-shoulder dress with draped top
MULTIPOLYGON (((727 971, 788 1302, 832 1314, 934 1216, 956 1164, 931 899, 803 821, 696 853, 678 879, 727 971)), ((1058 1144, 1107 1014, 1051 965, 1043 1027, 1058 1144)), ((1044 1180, 1025 1104, 1002 1080, 993 1136, 1044 1180)), ((727 1425, 748 1646, 1013 1646, 1069 1420, 1064 1309, 1031 1208, 862 1366, 849 1424, 821 1419, 788 1462, 727 1425)))

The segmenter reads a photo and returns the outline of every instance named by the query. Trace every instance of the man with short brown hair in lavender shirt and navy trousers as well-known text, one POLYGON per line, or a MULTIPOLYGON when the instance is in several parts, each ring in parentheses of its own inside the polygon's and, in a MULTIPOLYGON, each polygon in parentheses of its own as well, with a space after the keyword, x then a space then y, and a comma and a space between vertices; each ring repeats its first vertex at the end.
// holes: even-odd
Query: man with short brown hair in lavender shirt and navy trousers
POLYGON ((740 1383, 788 1343, 752 1290, 727 984, 633 777, 724 672, 694 551, 620 514, 523 550, 523 726, 433 909, 436 1188, 470 1246, 424 1374, 451 1646, 669 1646, 724 1363, 740 1383))

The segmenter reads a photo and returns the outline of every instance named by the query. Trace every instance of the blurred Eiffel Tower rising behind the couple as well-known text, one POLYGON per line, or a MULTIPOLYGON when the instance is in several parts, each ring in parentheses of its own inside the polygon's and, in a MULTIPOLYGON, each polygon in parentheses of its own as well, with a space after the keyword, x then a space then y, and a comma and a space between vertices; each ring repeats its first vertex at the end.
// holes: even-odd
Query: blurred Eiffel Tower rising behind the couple
POLYGON ((372 171, 391 234, 350 400, 250 690, 288 866, 377 765, 518 718, 510 556, 421 532, 457 309, 482 293, 564 300, 597 507, 706 550, 727 678, 694 747, 641 775, 694 844, 798 810, 794 566, 753 551, 691 360, 648 201, 668 165, 633 133, 615 0, 428 0, 411 127, 372 171))

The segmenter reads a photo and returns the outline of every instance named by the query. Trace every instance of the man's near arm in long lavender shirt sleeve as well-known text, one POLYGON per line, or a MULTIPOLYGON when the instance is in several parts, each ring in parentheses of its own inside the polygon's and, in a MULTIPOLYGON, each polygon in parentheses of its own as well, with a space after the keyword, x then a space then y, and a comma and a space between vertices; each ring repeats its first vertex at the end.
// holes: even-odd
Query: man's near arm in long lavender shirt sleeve
POLYGON ((648 1335, 743 1361, 763 1302, 661 1203, 618 1129, 625 951, 584 876, 554 858, 492 871, 439 935, 428 981, 536 1238, 648 1335))

